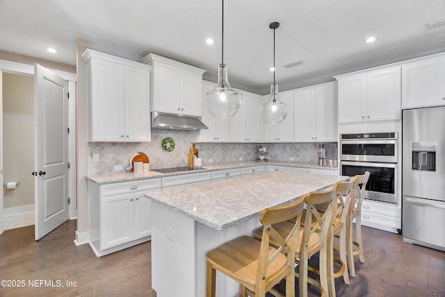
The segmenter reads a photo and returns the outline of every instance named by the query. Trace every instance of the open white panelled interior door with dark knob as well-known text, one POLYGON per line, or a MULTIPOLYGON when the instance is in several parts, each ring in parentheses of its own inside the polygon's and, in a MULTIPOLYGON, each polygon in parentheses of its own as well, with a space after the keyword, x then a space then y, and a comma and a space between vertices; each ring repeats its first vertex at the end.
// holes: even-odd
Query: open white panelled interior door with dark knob
POLYGON ((69 219, 68 82, 35 64, 35 240, 69 219))

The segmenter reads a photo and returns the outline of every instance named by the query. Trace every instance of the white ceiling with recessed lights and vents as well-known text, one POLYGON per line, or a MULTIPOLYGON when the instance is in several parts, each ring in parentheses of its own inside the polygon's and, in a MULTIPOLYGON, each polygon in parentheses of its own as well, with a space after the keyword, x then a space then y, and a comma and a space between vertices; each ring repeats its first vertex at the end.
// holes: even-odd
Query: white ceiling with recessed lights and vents
MULTIPOLYGON (((224 62, 232 87, 267 94, 445 51, 445 0, 225 0, 224 62), (367 44, 364 39, 376 35, 367 44), (290 62, 304 64, 283 67, 290 62)), ((76 65, 76 40, 139 60, 147 53, 206 69, 221 62, 221 0, 0 0, 0 50, 76 65), (207 37, 215 44, 205 43, 207 37), (50 55, 45 46, 60 51, 50 55)))

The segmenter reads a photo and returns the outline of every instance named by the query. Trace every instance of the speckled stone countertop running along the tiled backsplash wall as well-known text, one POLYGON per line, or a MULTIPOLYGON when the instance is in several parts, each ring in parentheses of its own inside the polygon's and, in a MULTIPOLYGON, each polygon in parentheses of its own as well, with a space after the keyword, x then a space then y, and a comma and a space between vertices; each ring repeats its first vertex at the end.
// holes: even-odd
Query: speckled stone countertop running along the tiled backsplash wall
POLYGON ((107 183, 126 182, 131 180, 143 180, 147 178, 160 178, 163 176, 178 176, 182 174, 193 174, 198 172, 250 167, 263 164, 286 166, 286 167, 300 167, 308 169, 310 168, 310 169, 323 169, 323 170, 337 170, 337 167, 321 167, 312 164, 296 164, 296 163, 286 163, 286 162, 241 162, 241 163, 225 163, 225 164, 204 164, 203 166, 204 169, 194 170, 194 171, 181 171, 175 173, 159 173, 154 171, 148 171, 143 173, 116 172, 116 173, 93 174, 90 176, 86 176, 86 178, 97 184, 107 184, 107 183))

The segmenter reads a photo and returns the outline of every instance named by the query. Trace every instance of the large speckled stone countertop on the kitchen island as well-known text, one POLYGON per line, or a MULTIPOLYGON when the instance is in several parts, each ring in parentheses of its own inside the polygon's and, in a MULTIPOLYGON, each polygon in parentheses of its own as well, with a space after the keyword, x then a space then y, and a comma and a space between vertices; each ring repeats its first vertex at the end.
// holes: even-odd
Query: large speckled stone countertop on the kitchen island
POLYGON ((302 194, 331 187, 348 176, 275 171, 145 194, 154 203, 216 230, 258 217, 266 207, 296 201, 302 194))

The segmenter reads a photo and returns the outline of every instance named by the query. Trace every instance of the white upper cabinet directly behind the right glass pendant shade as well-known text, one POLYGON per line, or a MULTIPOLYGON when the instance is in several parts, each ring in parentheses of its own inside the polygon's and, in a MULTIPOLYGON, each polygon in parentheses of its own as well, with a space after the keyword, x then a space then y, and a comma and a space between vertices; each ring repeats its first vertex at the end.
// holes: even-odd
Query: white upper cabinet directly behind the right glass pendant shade
POLYGON ((264 124, 264 142, 293 142, 293 94, 286 92, 278 96, 289 105, 287 116, 281 124, 264 124))

